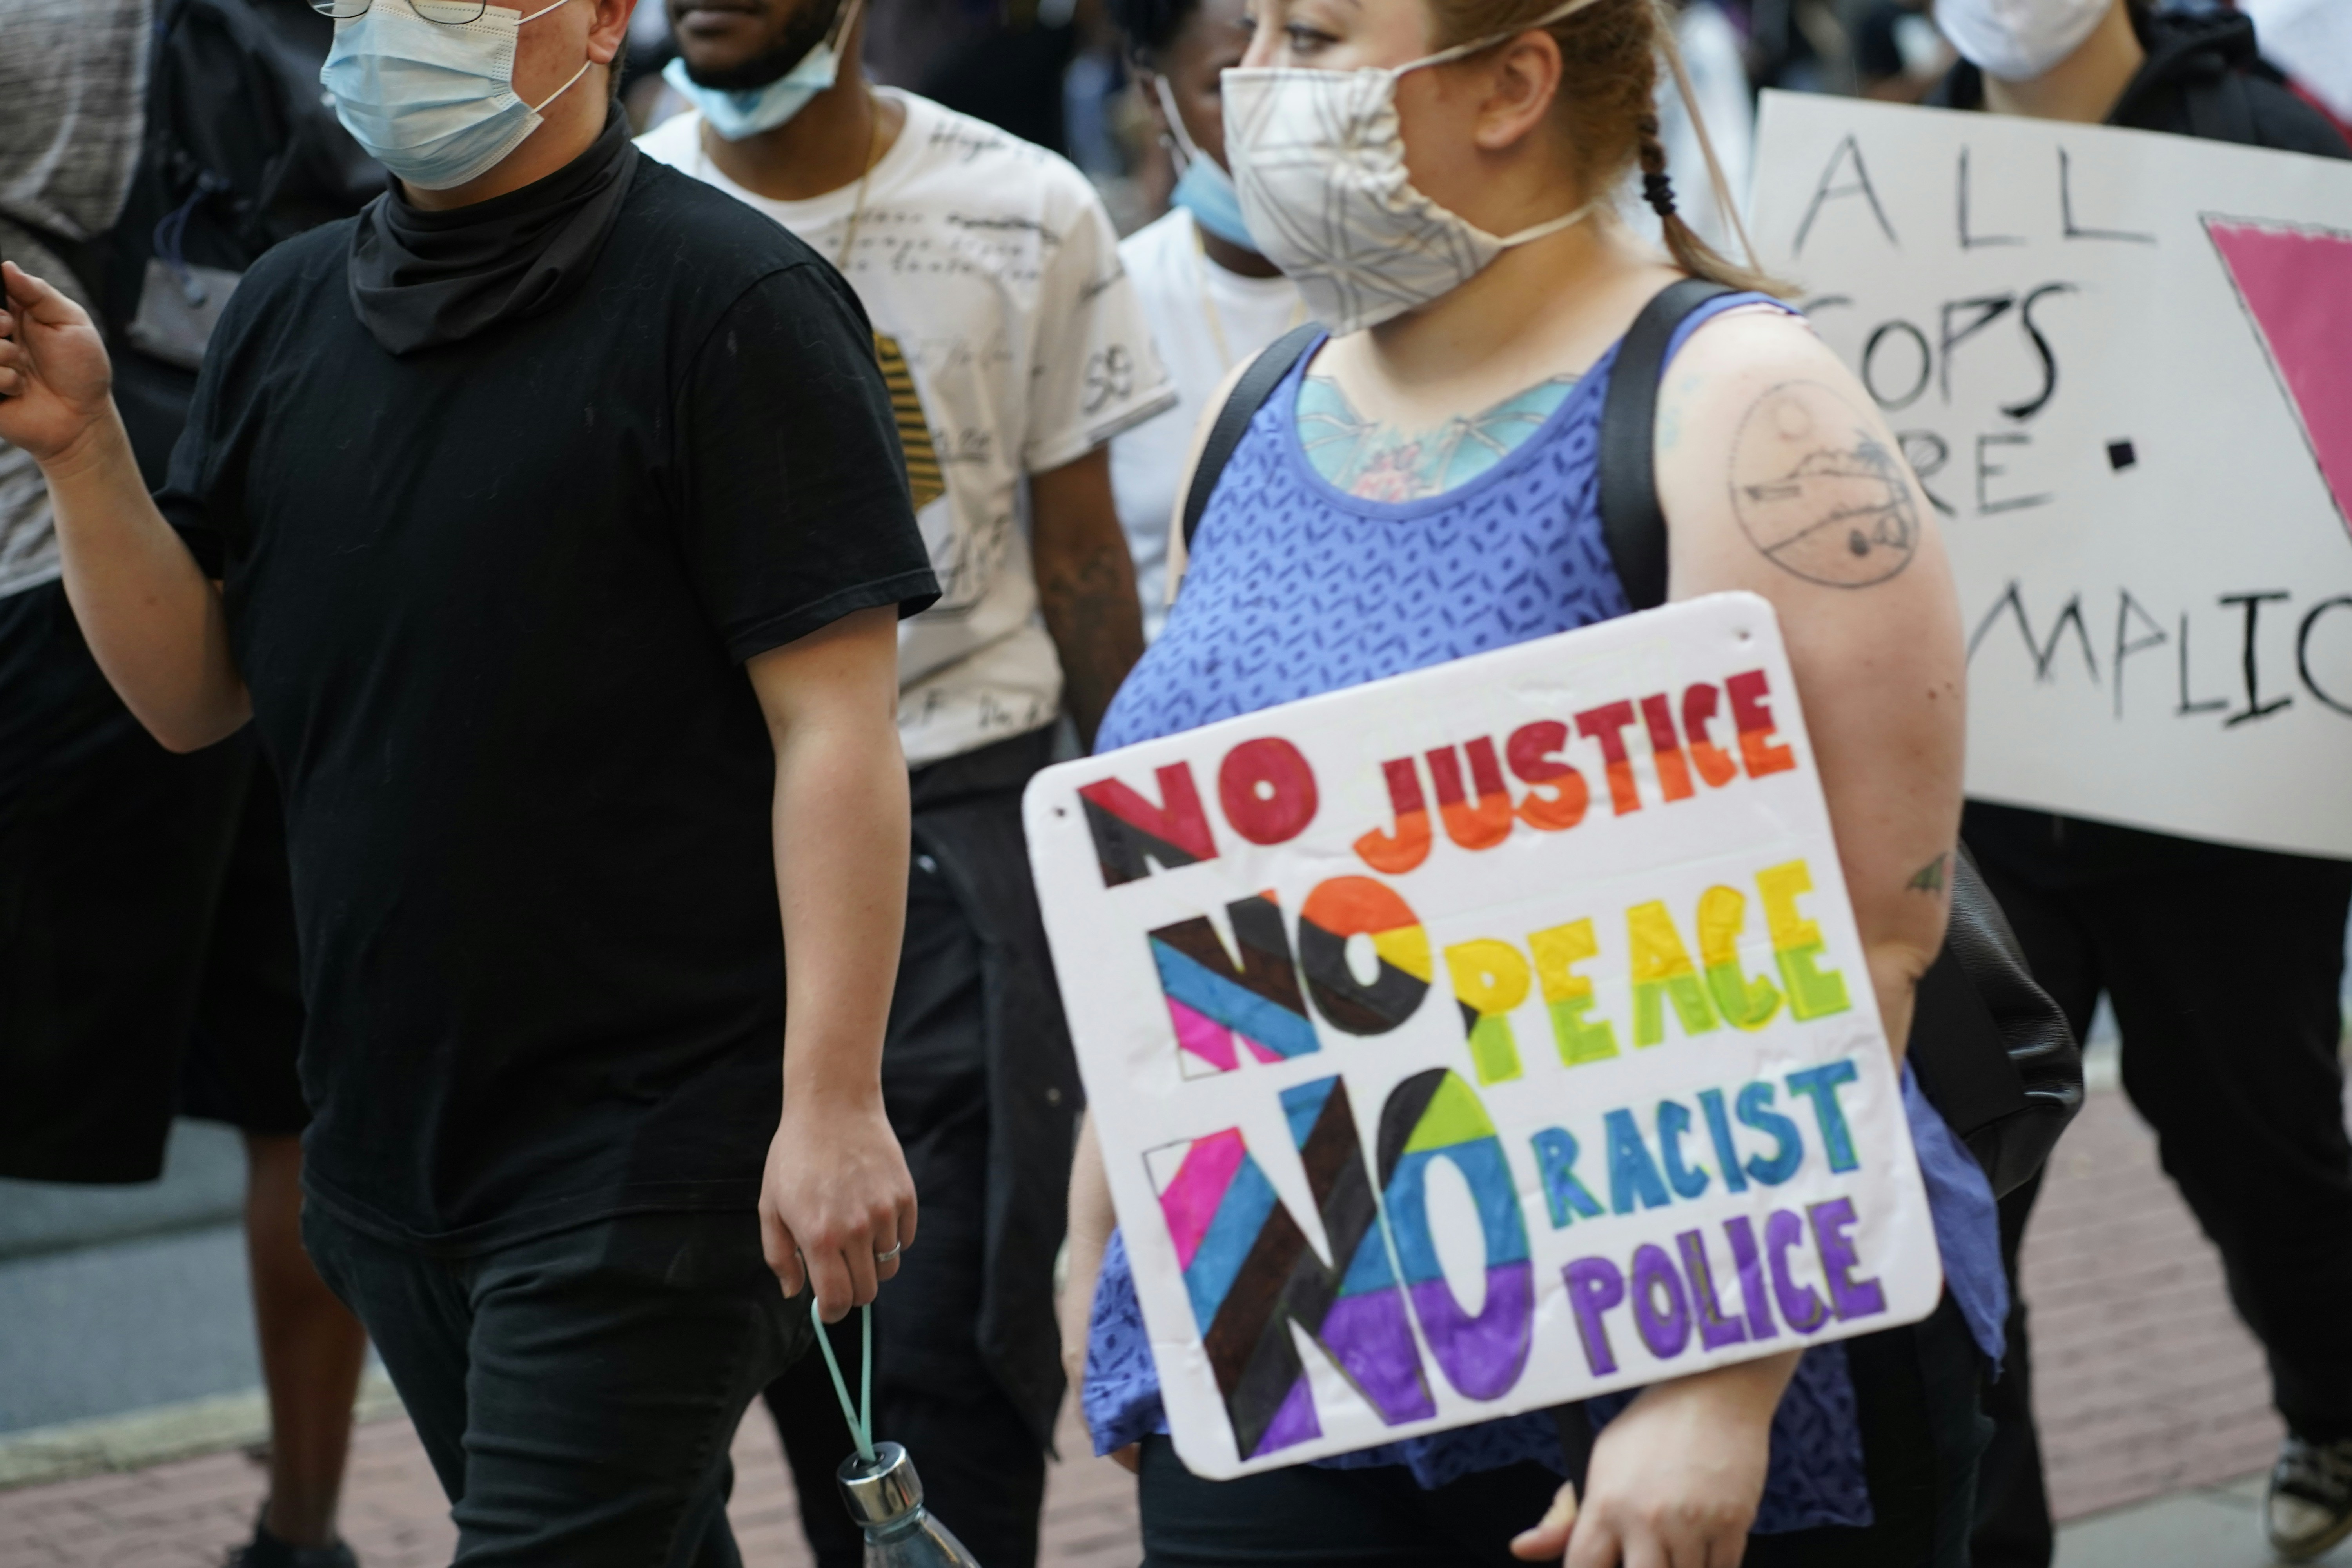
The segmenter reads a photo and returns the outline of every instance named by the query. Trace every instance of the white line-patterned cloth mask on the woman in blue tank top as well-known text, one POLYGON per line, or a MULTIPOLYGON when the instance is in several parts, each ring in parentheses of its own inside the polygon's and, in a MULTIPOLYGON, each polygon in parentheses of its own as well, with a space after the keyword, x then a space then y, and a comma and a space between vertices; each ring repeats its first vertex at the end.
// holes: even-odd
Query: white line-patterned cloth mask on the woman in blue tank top
POLYGON ((1489 49, 1592 2, 1566 0, 1524 28, 1402 66, 1225 71, 1225 160, 1249 233, 1334 336, 1425 306, 1512 244, 1555 235, 1604 205, 1606 197, 1592 197, 1515 235, 1489 235, 1414 190, 1397 122, 1397 78, 1406 71, 1489 49))

